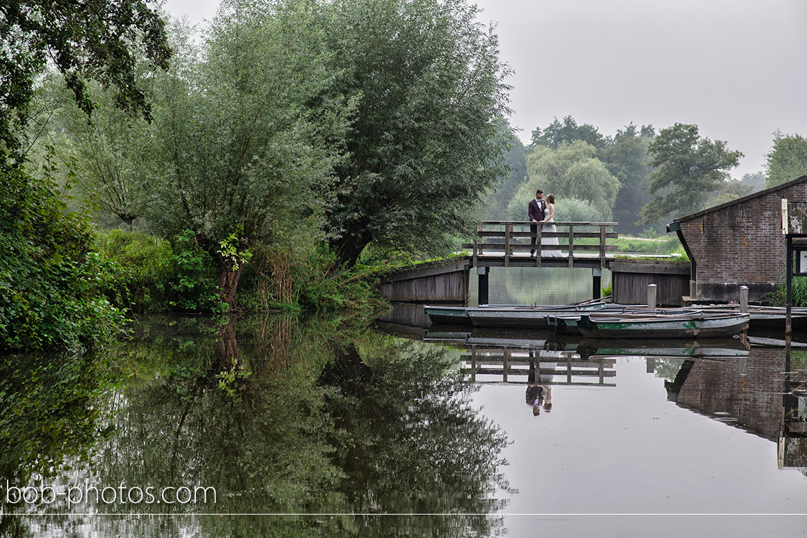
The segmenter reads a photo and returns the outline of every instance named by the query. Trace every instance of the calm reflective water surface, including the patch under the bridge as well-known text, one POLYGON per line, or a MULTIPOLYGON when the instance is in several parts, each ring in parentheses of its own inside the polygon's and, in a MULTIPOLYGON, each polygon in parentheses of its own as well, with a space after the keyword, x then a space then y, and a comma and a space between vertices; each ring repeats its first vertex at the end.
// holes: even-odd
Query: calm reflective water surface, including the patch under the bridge
MULTIPOLYGON (((552 273, 537 292, 534 273, 491 276, 491 292, 523 290, 491 301, 587 298, 590 272, 552 273)), ((807 352, 786 377, 784 349, 736 340, 378 327, 148 319, 109 361, 4 358, 0 536, 807 532, 807 352), (550 411, 525 403, 530 379, 552 387, 550 411), (14 502, 7 486, 115 502, 14 502), (215 502, 137 501, 149 486, 215 502)))

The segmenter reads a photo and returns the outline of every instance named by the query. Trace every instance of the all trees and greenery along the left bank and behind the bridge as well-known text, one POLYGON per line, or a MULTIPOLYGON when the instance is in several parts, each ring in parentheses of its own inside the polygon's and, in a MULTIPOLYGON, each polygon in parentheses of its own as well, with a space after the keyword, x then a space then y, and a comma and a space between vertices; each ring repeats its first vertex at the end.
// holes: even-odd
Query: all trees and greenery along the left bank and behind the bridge
MULTIPOLYGON (((567 116, 525 146, 465 2, 233 0, 198 33, 120 4, 0 7, 2 349, 88 348, 127 313, 373 309, 388 260, 524 219, 537 188, 636 235, 765 181, 696 125, 567 116)), ((776 136, 769 183, 802 142, 776 136)))

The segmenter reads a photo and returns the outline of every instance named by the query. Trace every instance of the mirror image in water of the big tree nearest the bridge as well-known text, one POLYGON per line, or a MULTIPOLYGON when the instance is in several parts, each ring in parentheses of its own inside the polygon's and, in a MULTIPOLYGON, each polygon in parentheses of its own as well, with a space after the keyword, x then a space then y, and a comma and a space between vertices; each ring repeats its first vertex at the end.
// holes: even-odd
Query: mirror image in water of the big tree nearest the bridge
MULTIPOLYGON (((337 461, 348 477, 340 490, 362 513, 491 514, 501 507, 494 488, 508 487, 497 475, 506 440, 467 406, 463 396, 472 385, 446 373, 445 352, 416 344, 362 353, 346 345, 320 376, 320 383, 340 389, 328 398, 337 461)), ((407 521, 400 536, 487 536, 491 530, 485 516, 432 520, 428 529, 418 527, 424 519, 407 521)))

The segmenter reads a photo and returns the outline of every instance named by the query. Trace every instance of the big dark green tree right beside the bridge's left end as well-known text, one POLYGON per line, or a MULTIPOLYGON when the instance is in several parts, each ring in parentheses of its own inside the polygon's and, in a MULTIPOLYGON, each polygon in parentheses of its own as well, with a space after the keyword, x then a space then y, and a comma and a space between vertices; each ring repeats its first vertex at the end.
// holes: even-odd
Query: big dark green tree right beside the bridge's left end
POLYGON ((467 233, 470 208, 502 177, 508 69, 465 2, 341 0, 327 40, 332 94, 357 110, 324 231, 353 265, 371 241, 436 252, 467 233))

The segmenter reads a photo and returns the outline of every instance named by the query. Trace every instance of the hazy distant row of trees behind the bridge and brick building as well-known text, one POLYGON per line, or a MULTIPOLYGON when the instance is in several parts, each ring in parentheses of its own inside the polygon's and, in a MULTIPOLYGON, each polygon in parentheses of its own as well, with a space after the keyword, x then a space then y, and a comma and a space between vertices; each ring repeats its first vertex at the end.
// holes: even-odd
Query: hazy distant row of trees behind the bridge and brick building
POLYGON ((696 125, 658 133, 629 123, 613 136, 567 116, 537 127, 525 146, 510 136, 510 173, 479 211, 486 220, 526 218, 537 189, 558 198, 556 220, 616 221, 623 234, 654 235, 677 216, 728 202, 807 174, 807 140, 774 134, 767 165, 730 176, 740 152, 701 138, 696 125))

